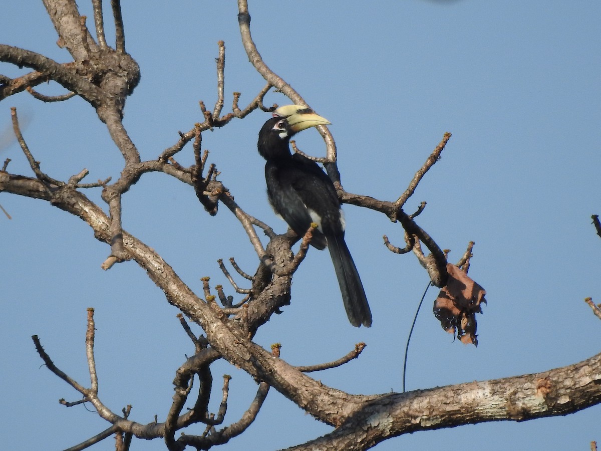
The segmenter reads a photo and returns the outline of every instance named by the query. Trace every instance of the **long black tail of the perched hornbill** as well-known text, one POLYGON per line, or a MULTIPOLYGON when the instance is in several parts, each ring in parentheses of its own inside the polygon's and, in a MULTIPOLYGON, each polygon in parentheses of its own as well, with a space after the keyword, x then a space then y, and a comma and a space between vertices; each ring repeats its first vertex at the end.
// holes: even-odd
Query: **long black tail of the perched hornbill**
POLYGON ((371 326, 371 311, 365 296, 365 290, 359 278, 359 272, 350 256, 349 248, 344 242, 344 236, 328 236, 328 249, 334 263, 344 309, 350 324, 355 327, 371 326))

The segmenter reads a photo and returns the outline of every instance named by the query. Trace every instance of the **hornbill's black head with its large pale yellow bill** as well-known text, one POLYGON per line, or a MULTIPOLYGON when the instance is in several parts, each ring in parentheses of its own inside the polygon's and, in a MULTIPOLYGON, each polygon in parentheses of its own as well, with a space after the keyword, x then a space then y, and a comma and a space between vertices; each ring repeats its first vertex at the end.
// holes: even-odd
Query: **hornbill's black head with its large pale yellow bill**
POLYGON ((290 156, 290 138, 297 132, 330 123, 312 109, 298 105, 280 106, 273 116, 263 124, 257 144, 259 153, 266 160, 290 156))

